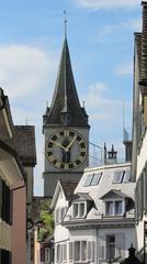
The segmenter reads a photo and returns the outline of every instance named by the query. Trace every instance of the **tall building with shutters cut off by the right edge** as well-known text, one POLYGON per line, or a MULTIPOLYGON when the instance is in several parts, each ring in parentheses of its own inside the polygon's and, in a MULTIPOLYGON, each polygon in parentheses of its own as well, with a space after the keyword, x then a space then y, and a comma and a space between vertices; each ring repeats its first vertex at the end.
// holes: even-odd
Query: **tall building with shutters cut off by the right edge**
POLYGON ((134 108, 133 108, 133 162, 136 178, 137 249, 147 263, 147 2, 143 7, 143 30, 135 33, 134 108))

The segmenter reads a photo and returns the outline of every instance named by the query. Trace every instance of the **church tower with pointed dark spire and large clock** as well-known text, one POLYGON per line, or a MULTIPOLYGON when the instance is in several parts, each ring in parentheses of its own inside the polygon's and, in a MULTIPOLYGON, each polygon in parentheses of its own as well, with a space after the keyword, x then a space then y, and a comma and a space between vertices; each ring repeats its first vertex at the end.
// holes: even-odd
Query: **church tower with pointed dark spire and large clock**
POLYGON ((53 197, 58 179, 79 180, 89 165, 88 114, 80 106, 65 34, 50 107, 43 116, 44 196, 53 197))

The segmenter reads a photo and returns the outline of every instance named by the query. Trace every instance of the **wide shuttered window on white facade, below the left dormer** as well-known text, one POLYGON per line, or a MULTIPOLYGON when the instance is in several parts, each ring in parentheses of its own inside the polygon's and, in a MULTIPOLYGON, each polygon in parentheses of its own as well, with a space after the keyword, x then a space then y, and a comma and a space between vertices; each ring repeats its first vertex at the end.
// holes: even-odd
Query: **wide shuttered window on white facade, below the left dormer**
POLYGON ((69 242, 69 261, 75 263, 94 262, 94 242, 93 241, 75 241, 69 242))

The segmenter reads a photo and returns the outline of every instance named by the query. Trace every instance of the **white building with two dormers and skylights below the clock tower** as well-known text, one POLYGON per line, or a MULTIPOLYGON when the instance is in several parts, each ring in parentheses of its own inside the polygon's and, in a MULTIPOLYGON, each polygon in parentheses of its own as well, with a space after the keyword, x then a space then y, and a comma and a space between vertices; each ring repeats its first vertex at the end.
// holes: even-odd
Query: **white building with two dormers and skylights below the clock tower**
POLYGON ((69 199, 59 186, 52 204, 54 263, 120 263, 131 243, 136 248, 131 163, 84 169, 69 199))

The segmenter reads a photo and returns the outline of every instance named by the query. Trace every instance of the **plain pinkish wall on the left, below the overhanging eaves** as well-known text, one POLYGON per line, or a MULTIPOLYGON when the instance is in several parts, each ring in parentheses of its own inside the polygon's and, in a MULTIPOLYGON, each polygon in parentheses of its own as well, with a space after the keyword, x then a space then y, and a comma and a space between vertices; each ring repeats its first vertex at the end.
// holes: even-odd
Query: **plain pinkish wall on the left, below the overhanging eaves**
POLYGON ((26 264, 26 189, 13 191, 12 264, 26 264))

